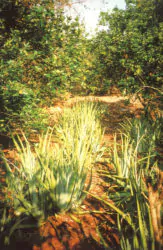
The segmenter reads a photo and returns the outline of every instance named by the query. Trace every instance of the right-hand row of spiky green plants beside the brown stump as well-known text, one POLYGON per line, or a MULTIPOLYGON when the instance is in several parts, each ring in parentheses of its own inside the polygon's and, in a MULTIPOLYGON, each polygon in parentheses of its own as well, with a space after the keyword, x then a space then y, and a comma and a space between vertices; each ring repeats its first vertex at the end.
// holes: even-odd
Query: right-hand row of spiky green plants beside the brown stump
POLYGON ((144 145, 148 143, 149 130, 139 120, 134 121, 134 124, 135 127, 129 122, 126 127, 123 124, 125 129, 121 132, 120 142, 117 142, 115 136, 110 154, 113 170, 110 173, 101 171, 101 175, 113 183, 108 195, 114 203, 96 198, 117 214, 121 249, 154 250, 156 242, 146 180, 153 169, 157 168, 155 154, 152 154, 155 141, 148 144, 147 150, 144 145))

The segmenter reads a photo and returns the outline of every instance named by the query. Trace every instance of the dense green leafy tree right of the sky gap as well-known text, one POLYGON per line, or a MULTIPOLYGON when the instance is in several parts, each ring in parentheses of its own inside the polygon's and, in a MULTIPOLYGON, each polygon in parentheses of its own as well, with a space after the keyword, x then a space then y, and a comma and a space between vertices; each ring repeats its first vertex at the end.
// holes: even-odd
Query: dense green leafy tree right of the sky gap
MULTIPOLYGON (((100 24, 108 27, 93 39, 97 75, 101 83, 118 85, 126 93, 142 91, 144 97, 155 87, 161 90, 162 1, 126 1, 126 9, 101 13, 100 24)), ((104 87, 105 89, 105 87, 104 87)), ((159 94, 159 93, 158 93, 159 94)))

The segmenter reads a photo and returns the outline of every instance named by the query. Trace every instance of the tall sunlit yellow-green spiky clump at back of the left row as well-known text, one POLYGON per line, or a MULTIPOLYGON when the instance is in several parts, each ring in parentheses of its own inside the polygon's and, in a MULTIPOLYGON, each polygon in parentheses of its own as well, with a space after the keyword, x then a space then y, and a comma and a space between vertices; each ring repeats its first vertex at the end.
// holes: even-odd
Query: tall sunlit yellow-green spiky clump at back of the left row
POLYGON ((59 161, 64 159, 60 164, 63 165, 61 171, 65 174, 65 182, 61 180, 61 185, 67 189, 70 183, 73 188, 69 192, 70 204, 73 201, 80 204, 84 199, 83 190, 89 190, 91 184, 92 166, 104 152, 101 146, 103 130, 97 111, 95 103, 78 102, 62 114, 55 127, 58 143, 64 149, 62 157, 59 156, 59 161), (86 179, 89 179, 87 186, 86 179))

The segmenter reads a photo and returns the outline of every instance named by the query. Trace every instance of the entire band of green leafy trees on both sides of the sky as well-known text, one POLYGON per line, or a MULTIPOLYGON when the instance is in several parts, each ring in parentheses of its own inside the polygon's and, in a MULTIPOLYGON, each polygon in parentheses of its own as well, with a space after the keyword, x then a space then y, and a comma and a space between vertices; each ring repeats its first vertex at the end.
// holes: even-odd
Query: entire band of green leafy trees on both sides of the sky
POLYGON ((105 94, 115 85, 144 98, 162 94, 163 1, 126 0, 126 9, 101 13, 107 31, 89 39, 64 14, 72 3, 1 0, 1 130, 39 121, 37 107, 65 91, 105 94))

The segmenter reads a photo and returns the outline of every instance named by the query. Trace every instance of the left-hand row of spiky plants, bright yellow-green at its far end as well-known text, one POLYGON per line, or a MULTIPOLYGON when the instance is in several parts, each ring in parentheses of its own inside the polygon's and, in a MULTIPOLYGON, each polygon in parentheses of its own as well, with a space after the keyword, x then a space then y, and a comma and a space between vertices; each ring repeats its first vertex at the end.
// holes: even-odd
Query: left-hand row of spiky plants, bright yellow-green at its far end
POLYGON ((40 224, 81 204, 83 191, 91 185, 92 168, 103 154, 99 114, 96 103, 79 102, 65 109, 37 144, 23 133, 13 138, 17 161, 11 163, 3 156, 7 187, 0 229, 6 243, 15 229, 32 226, 26 225, 29 218, 40 224), (13 216, 7 217, 9 209, 13 216), (9 219, 14 223, 8 231, 9 219))

